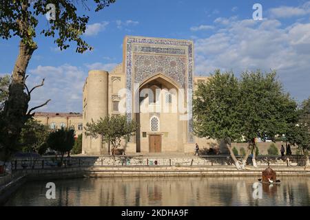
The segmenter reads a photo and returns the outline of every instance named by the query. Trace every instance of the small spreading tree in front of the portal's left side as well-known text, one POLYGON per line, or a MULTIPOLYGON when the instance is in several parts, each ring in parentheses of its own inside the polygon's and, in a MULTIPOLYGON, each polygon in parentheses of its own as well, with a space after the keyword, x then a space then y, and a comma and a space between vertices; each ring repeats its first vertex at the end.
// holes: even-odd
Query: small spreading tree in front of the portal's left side
POLYGON ((103 142, 112 144, 112 155, 115 154, 116 148, 121 146, 122 138, 126 141, 136 132, 138 124, 128 121, 125 115, 108 115, 100 118, 97 122, 87 122, 85 134, 94 138, 101 135, 103 142))

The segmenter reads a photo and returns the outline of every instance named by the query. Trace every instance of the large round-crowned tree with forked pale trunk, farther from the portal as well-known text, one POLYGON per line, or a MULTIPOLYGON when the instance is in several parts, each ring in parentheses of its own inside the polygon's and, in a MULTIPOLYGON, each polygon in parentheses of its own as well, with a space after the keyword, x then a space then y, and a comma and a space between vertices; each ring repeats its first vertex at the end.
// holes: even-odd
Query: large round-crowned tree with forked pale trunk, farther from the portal
MULTIPOLYGON (((288 124, 296 118, 296 102, 285 94, 276 72, 262 74, 245 72, 240 80, 239 120, 242 135, 248 141, 247 153, 242 160, 245 166, 249 153, 256 164, 256 137, 274 137, 287 131, 288 124)), ((274 140, 273 140, 274 141, 274 140)))

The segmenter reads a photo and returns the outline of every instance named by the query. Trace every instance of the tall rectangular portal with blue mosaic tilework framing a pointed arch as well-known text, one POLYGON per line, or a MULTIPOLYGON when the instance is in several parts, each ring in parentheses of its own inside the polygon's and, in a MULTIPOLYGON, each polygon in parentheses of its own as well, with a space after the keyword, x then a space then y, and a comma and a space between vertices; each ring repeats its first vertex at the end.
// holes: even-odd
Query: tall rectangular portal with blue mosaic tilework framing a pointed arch
POLYGON ((185 147, 194 142, 192 134, 193 42, 126 36, 123 45, 125 47, 123 69, 125 69, 127 89, 126 115, 129 120, 135 119, 141 124, 140 131, 136 133, 133 140, 136 144, 136 152, 184 151, 185 147), (154 96, 147 95, 148 97, 142 97, 140 100, 141 91, 145 92, 143 89, 150 89, 154 96), (176 100, 181 94, 184 105, 179 105, 177 102, 176 111, 163 113, 161 109, 163 104, 158 105, 158 98, 161 97, 165 102, 166 100, 172 102, 172 95, 164 92, 169 89, 177 91, 176 100), (156 91, 160 91, 161 96, 156 96, 156 91), (138 108, 136 94, 139 94, 138 108), (144 99, 148 102, 147 109, 153 109, 149 113, 144 112, 146 103, 144 99), (160 131, 149 129, 150 118, 153 115, 159 115, 157 117, 161 125, 160 131), (161 147, 155 148, 149 144, 150 142, 155 142, 156 146, 161 144, 161 147))

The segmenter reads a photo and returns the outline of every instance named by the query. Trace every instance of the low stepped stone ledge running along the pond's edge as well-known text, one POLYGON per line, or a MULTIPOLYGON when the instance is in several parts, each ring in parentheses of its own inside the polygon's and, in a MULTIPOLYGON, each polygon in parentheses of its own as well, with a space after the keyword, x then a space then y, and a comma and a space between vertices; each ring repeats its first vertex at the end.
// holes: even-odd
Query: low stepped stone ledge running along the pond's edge
MULTIPOLYGON (((68 179, 79 177, 161 177, 161 176, 261 176, 264 168, 237 170, 234 166, 210 167, 161 167, 161 166, 103 166, 92 168, 61 168, 47 170, 23 170, 28 179, 68 179)), ((310 176, 310 168, 273 168, 278 176, 310 176)))

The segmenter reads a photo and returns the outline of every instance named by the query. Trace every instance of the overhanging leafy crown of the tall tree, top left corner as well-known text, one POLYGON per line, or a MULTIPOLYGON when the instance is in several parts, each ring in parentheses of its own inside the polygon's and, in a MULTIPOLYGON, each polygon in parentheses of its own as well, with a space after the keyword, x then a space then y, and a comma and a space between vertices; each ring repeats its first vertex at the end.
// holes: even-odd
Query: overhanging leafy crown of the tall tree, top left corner
MULTIPOLYGON (((83 53, 85 50, 92 50, 83 39, 86 24, 90 17, 85 14, 78 15, 78 9, 74 3, 81 3, 85 9, 85 0, 36 0, 30 3, 28 0, 4 0, 0 4, 0 36, 3 39, 10 39, 12 36, 19 36, 27 47, 37 47, 34 38, 37 32, 55 38, 54 43, 65 50, 70 47, 70 42, 76 42, 76 52, 83 53), (46 28, 39 29, 39 17, 49 13, 48 3, 55 5, 56 17, 49 19, 46 28)), ((94 0, 96 12, 114 3, 115 0, 94 0)), ((79 5, 79 4, 78 4, 79 5)))

